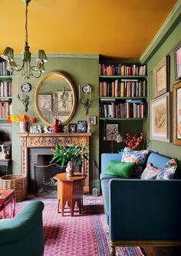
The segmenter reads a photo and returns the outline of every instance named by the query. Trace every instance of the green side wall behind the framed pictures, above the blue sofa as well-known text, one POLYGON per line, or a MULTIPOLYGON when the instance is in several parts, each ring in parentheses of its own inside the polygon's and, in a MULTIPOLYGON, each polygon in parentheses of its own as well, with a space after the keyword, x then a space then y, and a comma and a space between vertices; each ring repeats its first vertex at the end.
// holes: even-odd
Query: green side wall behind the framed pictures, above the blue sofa
MULTIPOLYGON (((173 49, 181 40, 181 23, 180 16, 178 25, 175 29, 169 33, 167 38, 163 40, 160 48, 156 50, 151 59, 147 62, 147 73, 148 73, 148 101, 153 99, 153 68, 163 59, 164 56, 170 57, 170 79, 169 79, 169 91, 173 91, 173 84, 176 83, 175 73, 174 73, 174 59, 173 59, 173 49)), ((172 109, 170 109, 172 113, 172 109)), ((170 118, 171 125, 173 126, 173 119, 170 118)), ((150 115, 146 123, 143 126, 144 131, 147 136, 150 135, 150 115)), ((150 150, 158 151, 169 157, 176 157, 181 159, 181 147, 173 145, 173 143, 166 143, 158 140, 150 140, 150 150)))

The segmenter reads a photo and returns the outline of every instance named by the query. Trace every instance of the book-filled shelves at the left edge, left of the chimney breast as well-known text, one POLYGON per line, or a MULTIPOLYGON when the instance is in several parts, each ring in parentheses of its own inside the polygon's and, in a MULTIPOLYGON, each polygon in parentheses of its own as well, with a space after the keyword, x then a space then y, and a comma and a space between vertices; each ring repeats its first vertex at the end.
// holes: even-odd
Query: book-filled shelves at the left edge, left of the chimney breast
POLYGON ((12 114, 12 76, 7 62, 0 59, 0 120, 5 122, 12 114))

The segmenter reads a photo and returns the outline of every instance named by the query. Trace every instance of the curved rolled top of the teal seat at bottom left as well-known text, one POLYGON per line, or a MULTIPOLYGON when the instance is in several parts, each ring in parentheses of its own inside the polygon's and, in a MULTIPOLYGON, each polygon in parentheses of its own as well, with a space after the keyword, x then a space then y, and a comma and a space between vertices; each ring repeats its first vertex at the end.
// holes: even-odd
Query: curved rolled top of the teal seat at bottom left
POLYGON ((44 204, 41 201, 31 201, 14 218, 0 220, 0 244, 21 240, 31 228, 42 226, 43 209, 44 204))

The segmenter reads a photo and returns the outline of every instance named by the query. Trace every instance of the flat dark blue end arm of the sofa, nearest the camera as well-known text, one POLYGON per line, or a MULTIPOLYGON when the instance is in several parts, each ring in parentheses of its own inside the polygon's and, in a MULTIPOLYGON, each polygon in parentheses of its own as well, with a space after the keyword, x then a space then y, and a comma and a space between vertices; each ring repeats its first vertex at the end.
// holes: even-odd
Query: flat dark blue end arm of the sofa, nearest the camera
POLYGON ((110 180, 110 241, 181 241, 181 180, 110 180))

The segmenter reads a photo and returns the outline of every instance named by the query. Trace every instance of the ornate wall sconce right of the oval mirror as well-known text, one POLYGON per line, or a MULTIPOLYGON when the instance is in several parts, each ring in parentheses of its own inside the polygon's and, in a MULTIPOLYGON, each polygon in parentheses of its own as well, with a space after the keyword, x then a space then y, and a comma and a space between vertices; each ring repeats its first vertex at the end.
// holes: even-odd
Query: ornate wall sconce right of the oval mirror
POLYGON ((86 116, 92 103, 92 88, 89 84, 79 86, 79 101, 86 109, 86 116))

